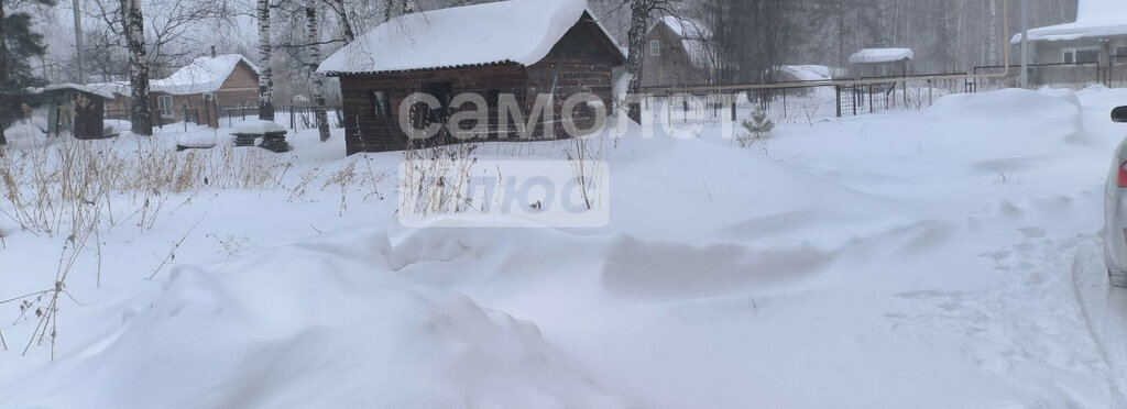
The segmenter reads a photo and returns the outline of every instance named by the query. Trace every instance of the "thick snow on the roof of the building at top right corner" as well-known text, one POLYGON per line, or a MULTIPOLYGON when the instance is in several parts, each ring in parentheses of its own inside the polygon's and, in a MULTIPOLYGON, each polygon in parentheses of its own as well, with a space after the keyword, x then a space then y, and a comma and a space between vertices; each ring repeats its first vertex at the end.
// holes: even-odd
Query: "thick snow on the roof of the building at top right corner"
MULTIPOLYGON (((1072 41, 1127 35, 1127 6, 1122 0, 1080 0, 1076 21, 1029 30, 1031 42, 1072 41)), ((1021 34, 1010 39, 1021 42, 1021 34)))

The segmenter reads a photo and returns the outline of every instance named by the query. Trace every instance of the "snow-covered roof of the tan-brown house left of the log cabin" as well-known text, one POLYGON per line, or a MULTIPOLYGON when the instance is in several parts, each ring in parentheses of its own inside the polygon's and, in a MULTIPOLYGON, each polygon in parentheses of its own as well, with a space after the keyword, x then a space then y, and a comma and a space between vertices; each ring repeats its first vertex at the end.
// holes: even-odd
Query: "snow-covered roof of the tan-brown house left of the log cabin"
POLYGON ((231 71, 234 71, 240 61, 256 73, 259 72, 258 66, 239 54, 219 55, 214 59, 202 56, 193 60, 192 63, 177 70, 170 77, 150 82, 150 90, 171 95, 214 92, 223 87, 223 82, 231 75, 231 71))

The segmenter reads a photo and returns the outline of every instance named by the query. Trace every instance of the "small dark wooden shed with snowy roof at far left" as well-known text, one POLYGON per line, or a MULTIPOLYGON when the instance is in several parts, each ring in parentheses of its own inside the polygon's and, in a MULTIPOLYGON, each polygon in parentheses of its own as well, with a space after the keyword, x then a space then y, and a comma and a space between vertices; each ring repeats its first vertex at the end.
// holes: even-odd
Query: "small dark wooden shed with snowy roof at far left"
POLYGON ((105 104, 112 94, 77 83, 61 83, 39 90, 38 103, 47 107, 47 134, 69 132, 74 139, 98 140, 105 135, 105 104))

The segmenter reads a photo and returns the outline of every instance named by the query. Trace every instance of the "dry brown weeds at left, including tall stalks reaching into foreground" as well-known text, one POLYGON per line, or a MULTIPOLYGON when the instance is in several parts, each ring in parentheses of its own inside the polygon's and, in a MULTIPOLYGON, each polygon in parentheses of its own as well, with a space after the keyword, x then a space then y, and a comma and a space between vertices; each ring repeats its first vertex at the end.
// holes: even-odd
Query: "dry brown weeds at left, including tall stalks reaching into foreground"
MULTIPOLYGON (((35 313, 36 327, 24 354, 32 345, 50 344, 52 358, 61 302, 69 299, 82 305, 66 290, 80 255, 94 254, 100 285, 103 231, 126 224, 135 225, 139 233, 152 230, 160 215, 170 213, 166 203, 172 195, 186 194, 186 204, 206 190, 284 188, 282 177, 292 167, 290 157, 258 149, 176 152, 163 141, 144 139, 63 137, 51 142, 27 149, 0 148, 0 217, 38 237, 64 238, 52 285, 0 304, 18 301, 20 317, 35 313)), ((7 234, 0 232, 3 246, 7 234)), ((183 242, 181 238, 174 244, 150 278, 183 242)), ((7 341, 2 344, 7 349, 7 341)))

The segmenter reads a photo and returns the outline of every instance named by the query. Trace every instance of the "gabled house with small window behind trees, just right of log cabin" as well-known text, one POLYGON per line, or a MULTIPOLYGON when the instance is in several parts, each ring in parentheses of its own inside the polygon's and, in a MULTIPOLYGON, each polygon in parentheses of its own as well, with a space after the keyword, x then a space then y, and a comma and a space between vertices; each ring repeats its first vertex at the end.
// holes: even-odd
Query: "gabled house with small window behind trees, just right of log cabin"
POLYGON ((665 16, 646 33, 642 87, 707 85, 711 79, 710 32, 695 20, 665 16))

